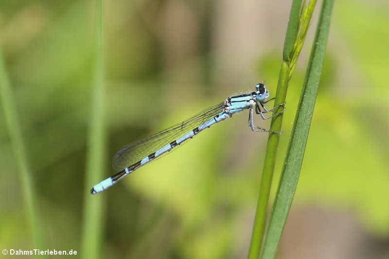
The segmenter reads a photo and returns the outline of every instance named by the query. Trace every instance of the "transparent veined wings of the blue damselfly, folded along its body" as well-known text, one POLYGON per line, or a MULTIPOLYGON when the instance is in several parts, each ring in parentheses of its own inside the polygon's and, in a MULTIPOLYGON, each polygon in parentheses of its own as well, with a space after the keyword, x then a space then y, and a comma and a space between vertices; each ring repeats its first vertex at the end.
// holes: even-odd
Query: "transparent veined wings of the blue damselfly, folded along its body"
MULTIPOLYGON (((112 159, 112 167, 116 171, 121 171, 127 166, 130 166, 147 155, 150 155, 166 144, 176 140, 195 127, 208 121, 210 118, 216 116, 223 111, 224 102, 216 104, 208 109, 205 109, 191 118, 179 122, 167 129, 131 144, 128 144, 121 148, 112 159)), ((153 161, 153 160, 152 160, 153 161)))

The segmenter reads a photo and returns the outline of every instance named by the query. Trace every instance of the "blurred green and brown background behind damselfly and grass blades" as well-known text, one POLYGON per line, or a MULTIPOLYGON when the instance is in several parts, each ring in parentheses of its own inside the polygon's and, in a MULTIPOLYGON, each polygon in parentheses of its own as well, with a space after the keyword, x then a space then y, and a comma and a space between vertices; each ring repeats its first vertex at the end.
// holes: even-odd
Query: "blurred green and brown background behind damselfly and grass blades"
MULTIPOLYGON (((123 145, 265 82, 274 96, 291 1, 105 1, 105 176, 123 145)), ((282 169, 318 10, 287 96, 282 169)), ((389 3, 336 1, 278 258, 389 257, 389 3)), ((0 2, 0 43, 45 249, 82 254, 93 1, 0 2)), ((102 258, 246 258, 267 134, 212 126, 104 195, 102 258)), ((256 124, 268 127, 256 118, 256 124)), ((33 249, 0 109, 0 244, 33 249)), ((273 195, 274 190, 273 188, 273 195)), ((90 196, 90 199, 95 197, 90 196)))

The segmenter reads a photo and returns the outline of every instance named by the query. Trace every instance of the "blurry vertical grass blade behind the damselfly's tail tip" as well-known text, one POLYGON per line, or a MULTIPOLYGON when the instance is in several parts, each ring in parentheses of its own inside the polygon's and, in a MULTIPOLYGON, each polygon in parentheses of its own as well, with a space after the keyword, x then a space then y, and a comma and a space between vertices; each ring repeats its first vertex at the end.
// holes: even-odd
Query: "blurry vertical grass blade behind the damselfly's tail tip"
POLYGON ((105 86, 103 61, 103 6, 96 1, 94 88, 92 111, 88 136, 88 155, 84 197, 83 237, 81 250, 83 258, 99 258, 102 242, 102 211, 104 195, 91 196, 90 188, 102 180, 105 168, 105 86))

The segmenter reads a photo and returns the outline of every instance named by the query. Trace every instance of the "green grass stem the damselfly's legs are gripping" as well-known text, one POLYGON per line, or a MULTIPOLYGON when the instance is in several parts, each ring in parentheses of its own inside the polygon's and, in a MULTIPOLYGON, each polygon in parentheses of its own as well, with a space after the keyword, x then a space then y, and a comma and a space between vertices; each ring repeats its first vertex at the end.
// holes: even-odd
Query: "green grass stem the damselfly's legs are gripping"
MULTIPOLYGON (((301 47, 305 39, 306 31, 308 30, 308 25, 315 5, 316 0, 311 0, 308 7, 305 5, 305 1, 302 5, 301 0, 294 0, 292 2, 283 47, 283 62, 281 64, 278 79, 275 105, 285 102, 289 80, 295 68, 296 61, 300 55, 301 47)), ((282 109, 283 107, 280 106, 273 111, 273 114, 282 111, 282 109)), ((270 129, 280 132, 282 120, 282 114, 274 117, 271 120, 270 129)), ((267 204, 270 195, 271 182, 273 179, 279 139, 280 135, 269 133, 248 259, 257 259, 260 254, 261 244, 265 232, 267 204)))

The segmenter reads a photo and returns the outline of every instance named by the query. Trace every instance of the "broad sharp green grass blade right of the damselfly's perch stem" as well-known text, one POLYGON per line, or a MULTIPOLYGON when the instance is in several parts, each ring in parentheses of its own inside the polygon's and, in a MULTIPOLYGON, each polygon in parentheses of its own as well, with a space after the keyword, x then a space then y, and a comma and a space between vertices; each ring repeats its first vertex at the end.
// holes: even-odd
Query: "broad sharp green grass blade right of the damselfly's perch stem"
POLYGON ((297 187, 302 158, 318 93, 318 84, 327 45, 333 3, 333 0, 324 0, 321 8, 315 41, 309 59, 310 62, 305 75, 292 136, 285 157, 281 182, 277 190, 276 200, 264 242, 262 259, 272 259, 275 257, 277 246, 283 232, 283 226, 286 222, 297 187))

